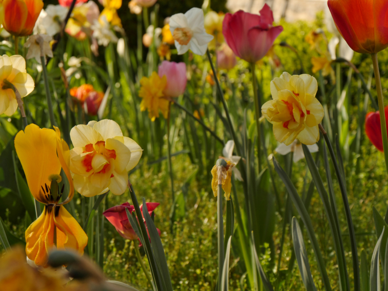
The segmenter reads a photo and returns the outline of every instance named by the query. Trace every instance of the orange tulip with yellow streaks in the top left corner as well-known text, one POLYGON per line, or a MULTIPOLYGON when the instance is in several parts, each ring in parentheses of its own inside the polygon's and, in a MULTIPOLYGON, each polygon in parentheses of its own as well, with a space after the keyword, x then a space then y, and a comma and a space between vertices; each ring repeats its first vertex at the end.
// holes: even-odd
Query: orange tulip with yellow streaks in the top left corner
POLYGON ((43 1, 4 0, 2 4, 4 29, 15 36, 30 35, 43 8, 43 1))

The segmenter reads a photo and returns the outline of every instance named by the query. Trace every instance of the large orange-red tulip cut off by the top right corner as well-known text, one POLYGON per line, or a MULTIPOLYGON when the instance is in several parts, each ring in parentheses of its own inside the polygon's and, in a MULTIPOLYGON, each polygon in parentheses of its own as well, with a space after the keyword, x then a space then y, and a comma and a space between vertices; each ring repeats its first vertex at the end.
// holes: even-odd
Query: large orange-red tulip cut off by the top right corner
POLYGON ((388 47, 388 1, 328 0, 331 15, 354 51, 377 53, 388 47))

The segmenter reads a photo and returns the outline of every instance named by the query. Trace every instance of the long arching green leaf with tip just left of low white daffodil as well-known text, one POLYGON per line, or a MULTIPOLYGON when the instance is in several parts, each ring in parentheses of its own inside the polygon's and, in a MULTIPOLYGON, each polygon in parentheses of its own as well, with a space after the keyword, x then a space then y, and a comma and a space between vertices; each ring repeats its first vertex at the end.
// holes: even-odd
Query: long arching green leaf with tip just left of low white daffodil
POLYGON ((275 157, 273 158, 273 162, 274 162, 274 166, 277 174, 280 176, 284 185, 286 186, 286 189, 291 196, 291 200, 296 210, 298 211, 299 215, 301 216, 304 225, 306 226, 307 235, 311 241, 312 248, 314 250, 314 254, 317 259, 318 269, 323 279, 323 286, 326 289, 326 291, 331 291, 332 289, 330 286, 329 277, 326 272, 325 262, 321 254, 321 250, 319 248, 317 238, 315 237, 315 232, 311 223, 310 216, 308 216, 305 205, 303 204, 302 199, 299 197, 299 194, 296 192, 295 186, 292 184, 290 178, 287 176, 286 172, 284 172, 284 170, 281 168, 281 166, 279 165, 279 162, 277 162, 275 157))

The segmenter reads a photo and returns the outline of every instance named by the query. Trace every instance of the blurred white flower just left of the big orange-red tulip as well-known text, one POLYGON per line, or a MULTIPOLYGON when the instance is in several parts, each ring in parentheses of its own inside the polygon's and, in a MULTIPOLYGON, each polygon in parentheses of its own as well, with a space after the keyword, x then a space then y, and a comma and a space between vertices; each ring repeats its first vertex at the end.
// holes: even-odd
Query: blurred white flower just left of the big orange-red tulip
POLYGON ((328 32, 331 32, 334 34, 334 36, 330 39, 328 48, 331 55, 331 58, 335 60, 336 57, 336 48, 339 43, 339 57, 343 58, 347 61, 352 61, 354 50, 349 47, 349 45, 346 43, 346 41, 343 39, 341 34, 339 33, 336 24, 334 23, 334 19, 331 16, 329 7, 326 5, 325 8, 325 22, 328 32))

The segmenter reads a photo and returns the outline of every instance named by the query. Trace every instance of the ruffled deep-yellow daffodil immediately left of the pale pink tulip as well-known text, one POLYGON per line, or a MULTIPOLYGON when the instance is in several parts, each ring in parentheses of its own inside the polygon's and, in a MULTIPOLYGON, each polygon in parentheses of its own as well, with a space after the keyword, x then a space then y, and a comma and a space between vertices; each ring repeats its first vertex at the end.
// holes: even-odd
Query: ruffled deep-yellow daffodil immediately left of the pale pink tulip
POLYGON ((167 85, 166 76, 161 78, 156 72, 152 72, 151 77, 143 77, 140 84, 139 97, 143 98, 140 103, 140 110, 148 110, 148 117, 152 121, 159 117, 159 110, 164 118, 167 118, 168 100, 163 95, 163 90, 167 85))

